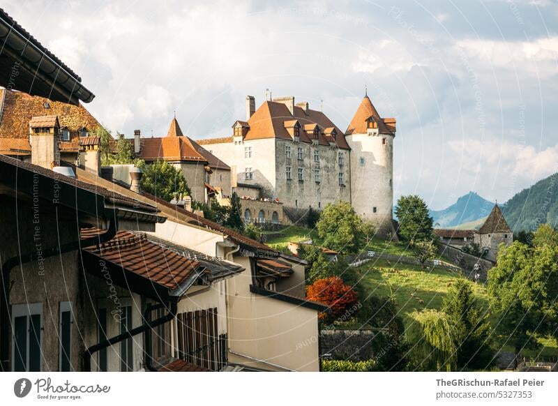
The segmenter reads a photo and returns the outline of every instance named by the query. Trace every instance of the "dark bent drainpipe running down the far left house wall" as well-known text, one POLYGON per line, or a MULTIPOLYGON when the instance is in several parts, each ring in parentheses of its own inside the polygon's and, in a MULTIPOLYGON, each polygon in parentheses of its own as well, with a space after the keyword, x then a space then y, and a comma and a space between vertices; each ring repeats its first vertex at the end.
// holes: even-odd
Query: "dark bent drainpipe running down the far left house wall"
MULTIPOLYGON (((116 230, 118 230, 118 218, 116 218, 116 211, 111 211, 112 219, 109 220, 110 223, 107 232, 89 239, 79 240, 63 246, 43 250, 43 258, 54 257, 54 255, 68 253, 73 250, 78 250, 81 247, 94 246, 96 244, 110 241, 116 235, 116 230)), ((109 218, 111 217, 109 216, 109 218)), ((2 300, 0 300, 0 370, 2 371, 10 370, 9 352, 10 337, 12 336, 10 334, 10 287, 8 287, 8 284, 10 283, 10 271, 17 265, 27 264, 28 262, 36 260, 36 257, 36 252, 16 255, 2 264, 2 278, 0 280, 2 285, 2 300)))

